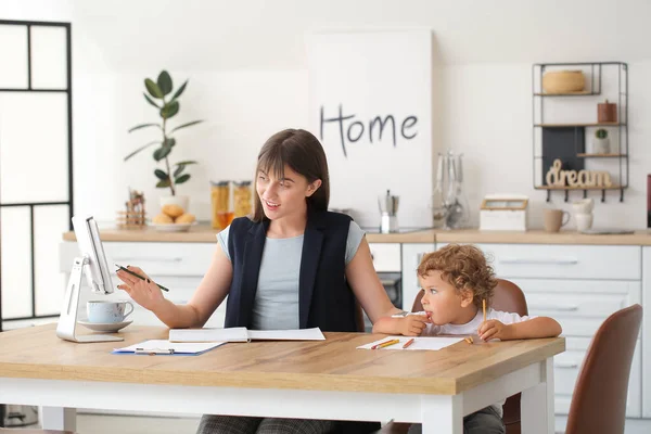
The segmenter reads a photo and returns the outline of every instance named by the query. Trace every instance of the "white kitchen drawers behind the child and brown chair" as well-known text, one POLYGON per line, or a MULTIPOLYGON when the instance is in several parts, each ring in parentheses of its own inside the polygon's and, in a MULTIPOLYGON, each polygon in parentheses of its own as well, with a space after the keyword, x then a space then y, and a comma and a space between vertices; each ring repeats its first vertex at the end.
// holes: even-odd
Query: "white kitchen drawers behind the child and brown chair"
MULTIPOLYGON (((643 247, 642 254, 642 247, 630 245, 476 245, 499 278, 523 290, 531 315, 549 316, 561 323, 567 350, 554 357, 554 401, 556 413, 566 414, 597 329, 616 310, 646 305, 651 294, 651 247, 643 247)), ((649 366, 651 348, 641 344, 646 333, 651 333, 647 317, 630 368, 627 418, 651 417, 651 369, 642 368, 649 366)))

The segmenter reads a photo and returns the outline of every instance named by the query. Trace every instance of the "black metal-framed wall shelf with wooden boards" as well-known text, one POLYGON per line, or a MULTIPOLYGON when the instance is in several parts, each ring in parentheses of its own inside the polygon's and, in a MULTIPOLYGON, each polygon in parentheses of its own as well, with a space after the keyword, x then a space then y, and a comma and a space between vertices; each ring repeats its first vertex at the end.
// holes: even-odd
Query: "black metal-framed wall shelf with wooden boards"
POLYGON ((620 191, 620 202, 623 202, 629 178, 628 65, 623 62, 536 63, 532 67, 532 94, 534 189, 547 191, 547 202, 551 200, 552 191, 564 192, 565 202, 569 201, 570 192, 574 191, 583 191, 584 197, 587 197, 588 192, 601 191, 601 202, 605 202, 607 191, 620 191), (545 73, 563 69, 580 69, 586 78, 585 89, 566 93, 546 92, 542 88, 545 73), (563 97, 572 97, 572 102, 563 97), (616 103, 616 122, 597 122, 597 103, 607 99, 616 103), (584 101, 585 106, 582 108, 584 101), (590 117, 586 119, 586 108, 592 111, 590 117, 593 122, 589 120, 590 117), (569 118, 574 113, 579 116, 583 114, 584 118, 569 118), (609 153, 598 154, 593 148, 588 148, 590 143, 595 146, 592 128, 607 129, 611 145, 609 153), (601 164, 590 165, 593 158, 601 164), (562 170, 597 170, 597 167, 599 170, 607 170, 613 186, 547 186, 546 175, 556 159, 562 162, 562 170))

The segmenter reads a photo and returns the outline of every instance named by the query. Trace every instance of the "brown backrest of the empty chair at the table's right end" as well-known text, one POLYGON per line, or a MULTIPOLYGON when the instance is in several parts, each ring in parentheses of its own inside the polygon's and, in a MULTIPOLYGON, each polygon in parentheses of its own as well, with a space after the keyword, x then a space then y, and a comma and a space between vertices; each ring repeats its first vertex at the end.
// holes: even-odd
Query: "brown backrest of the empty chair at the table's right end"
POLYGON ((642 322, 633 305, 601 324, 580 368, 567 416, 566 434, 624 433, 628 376, 642 322))

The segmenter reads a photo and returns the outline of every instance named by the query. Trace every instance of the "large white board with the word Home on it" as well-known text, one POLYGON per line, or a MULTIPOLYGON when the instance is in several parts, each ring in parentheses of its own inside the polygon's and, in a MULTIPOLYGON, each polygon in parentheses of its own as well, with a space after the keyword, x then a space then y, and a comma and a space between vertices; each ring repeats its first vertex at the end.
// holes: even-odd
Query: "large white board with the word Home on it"
POLYGON ((399 196, 400 227, 430 227, 432 34, 307 37, 309 127, 326 149, 330 206, 380 225, 378 196, 399 196))

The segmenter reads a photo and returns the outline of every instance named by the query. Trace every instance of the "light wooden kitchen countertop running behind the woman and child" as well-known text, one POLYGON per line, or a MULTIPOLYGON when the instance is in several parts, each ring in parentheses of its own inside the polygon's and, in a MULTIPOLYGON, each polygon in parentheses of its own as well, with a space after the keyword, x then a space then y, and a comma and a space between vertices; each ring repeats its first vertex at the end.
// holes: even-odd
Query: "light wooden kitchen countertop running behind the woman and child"
MULTIPOLYGON (((100 229, 102 241, 122 242, 187 242, 212 243, 218 230, 197 225, 188 232, 158 232, 145 229, 100 229)), ((74 232, 65 232, 63 240, 75 241, 74 232)), ((369 243, 496 243, 496 244, 593 244, 593 245, 651 245, 651 232, 636 231, 629 234, 584 234, 575 231, 549 233, 544 230, 526 232, 480 231, 478 229, 435 230, 426 229, 404 233, 367 233, 369 243)))

